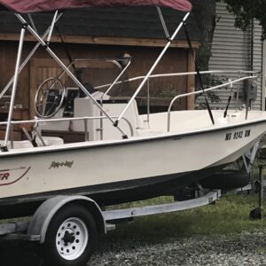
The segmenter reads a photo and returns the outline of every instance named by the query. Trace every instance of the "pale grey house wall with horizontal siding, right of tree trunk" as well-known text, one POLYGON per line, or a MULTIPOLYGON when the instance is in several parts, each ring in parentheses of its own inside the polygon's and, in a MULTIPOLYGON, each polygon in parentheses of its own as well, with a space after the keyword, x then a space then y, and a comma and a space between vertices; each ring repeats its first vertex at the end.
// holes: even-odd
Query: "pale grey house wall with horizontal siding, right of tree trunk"
MULTIPOLYGON (((212 43, 212 57, 209 61, 210 70, 254 70, 259 72, 256 84, 256 99, 252 101, 252 108, 257 110, 265 109, 265 43, 262 42, 262 27, 254 21, 254 27, 246 31, 234 27, 235 17, 228 12, 223 1, 216 3, 216 27, 212 43)), ((236 74, 220 74, 221 79, 228 77, 238 78, 236 74)), ((243 90, 245 83, 240 84, 239 104, 245 104, 243 90)), ((238 84, 233 86, 233 98, 231 108, 236 105, 236 92, 238 84)), ((229 98, 230 89, 217 90, 220 98, 219 108, 224 108, 229 98)))

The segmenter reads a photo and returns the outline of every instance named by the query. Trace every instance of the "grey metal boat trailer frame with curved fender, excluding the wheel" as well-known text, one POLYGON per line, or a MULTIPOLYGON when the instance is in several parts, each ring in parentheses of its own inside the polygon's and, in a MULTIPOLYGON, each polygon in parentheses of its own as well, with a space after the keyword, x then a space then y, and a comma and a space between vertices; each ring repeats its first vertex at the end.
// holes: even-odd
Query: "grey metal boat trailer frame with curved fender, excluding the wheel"
POLYGON ((145 215, 158 215, 171 213, 194 207, 202 207, 215 203, 221 197, 221 191, 207 192, 205 195, 184 201, 174 201, 160 205, 145 207, 129 207, 113 210, 102 210, 98 204, 84 196, 56 196, 43 202, 37 208, 31 218, 26 222, 16 222, 12 219, 7 223, 0 224, 0 240, 27 240, 43 244, 47 236, 47 229, 51 221, 57 219, 57 215, 64 208, 71 207, 72 204, 85 206, 91 213, 95 222, 99 224, 99 231, 107 233, 115 230, 116 223, 121 221, 132 221, 132 219, 145 215))

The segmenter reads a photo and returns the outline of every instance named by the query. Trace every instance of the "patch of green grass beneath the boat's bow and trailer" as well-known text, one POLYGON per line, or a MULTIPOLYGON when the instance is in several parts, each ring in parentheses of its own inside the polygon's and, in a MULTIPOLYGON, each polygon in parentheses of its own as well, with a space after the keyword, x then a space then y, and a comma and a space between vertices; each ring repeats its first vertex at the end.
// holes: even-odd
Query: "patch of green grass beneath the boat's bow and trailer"
MULTIPOLYGON (((168 198, 148 200, 148 204, 168 198)), ((139 207, 146 201, 133 203, 132 207, 139 207)), ((264 204, 266 203, 266 200, 264 204)), ((129 207, 122 206, 122 207, 129 207)), ((223 195, 215 205, 194 208, 170 214, 140 217, 132 224, 120 224, 116 231, 107 238, 138 239, 144 241, 161 242, 165 239, 192 237, 195 235, 232 235, 241 231, 258 231, 266 229, 266 220, 251 221, 249 212, 258 207, 257 194, 223 195)))

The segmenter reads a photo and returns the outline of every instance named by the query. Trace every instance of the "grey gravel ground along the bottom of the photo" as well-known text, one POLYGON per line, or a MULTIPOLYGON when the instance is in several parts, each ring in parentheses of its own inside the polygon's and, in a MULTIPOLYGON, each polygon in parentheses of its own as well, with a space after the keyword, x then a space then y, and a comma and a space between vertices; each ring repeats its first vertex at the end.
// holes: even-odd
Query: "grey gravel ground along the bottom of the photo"
MULTIPOLYGON (((140 265, 265 265, 266 231, 218 237, 167 239, 163 243, 102 240, 91 257, 90 266, 140 265)), ((2 266, 43 266, 36 254, 23 243, 0 246, 2 266), (14 255, 15 254, 15 255, 14 255)))

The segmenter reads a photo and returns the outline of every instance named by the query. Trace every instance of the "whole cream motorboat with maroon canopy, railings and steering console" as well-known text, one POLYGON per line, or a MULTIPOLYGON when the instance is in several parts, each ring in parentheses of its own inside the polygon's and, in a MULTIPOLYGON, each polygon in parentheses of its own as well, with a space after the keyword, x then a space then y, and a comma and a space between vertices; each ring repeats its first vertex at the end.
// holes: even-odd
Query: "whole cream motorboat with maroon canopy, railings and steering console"
MULTIPOLYGON (((200 93, 204 95, 208 90, 250 81, 256 79, 254 73, 246 73, 246 76, 222 85, 178 95, 173 98, 168 112, 138 113, 136 98, 149 79, 211 73, 196 71, 153 75, 154 68, 189 18, 192 9, 189 1, 37 2, 38 4, 32 4, 28 0, 0 0, 2 7, 14 12, 23 25, 15 74, 0 94, 3 97, 12 84, 8 119, 0 122, 6 128, 0 152, 1 218, 30 215, 44 200, 55 195, 85 195, 98 202, 99 206, 108 206, 175 193, 181 187, 221 171, 251 149, 265 134, 266 113, 248 110, 248 107, 240 110, 237 106, 235 110, 226 108, 225 111, 208 108, 208 112, 172 111, 178 98, 200 93), (83 84, 70 70, 72 64, 66 66, 49 46, 53 27, 62 15, 60 10, 116 5, 163 5, 184 12, 183 21, 168 38, 150 71, 145 76, 136 78, 141 83, 134 95, 127 100, 110 98, 108 92, 114 84, 120 82, 121 74, 130 64, 129 59, 113 83, 103 84, 102 87, 107 90, 99 92, 90 90, 83 84), (55 11, 51 27, 43 36, 38 35, 20 15, 51 11, 55 11), (21 67, 27 63, 20 65, 25 30, 58 62, 63 72, 74 81, 76 88, 65 89, 60 78, 51 77, 37 90, 37 117, 27 121, 12 121, 18 77, 21 67), (79 92, 74 93, 76 97, 71 99, 73 108, 70 108, 72 114, 66 115, 69 110, 66 110, 64 102, 68 102, 66 99, 73 95, 73 91, 82 91, 85 97, 78 97, 79 92), (24 128, 28 139, 13 141, 12 128, 25 123, 33 125, 34 134, 28 134, 24 128), (43 136, 45 130, 51 132, 69 129, 70 125, 71 130, 82 130, 84 141, 64 143, 59 137, 43 136)), ((162 16, 160 20, 163 23, 162 16)))

